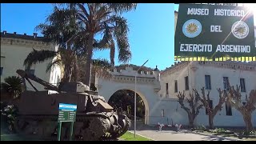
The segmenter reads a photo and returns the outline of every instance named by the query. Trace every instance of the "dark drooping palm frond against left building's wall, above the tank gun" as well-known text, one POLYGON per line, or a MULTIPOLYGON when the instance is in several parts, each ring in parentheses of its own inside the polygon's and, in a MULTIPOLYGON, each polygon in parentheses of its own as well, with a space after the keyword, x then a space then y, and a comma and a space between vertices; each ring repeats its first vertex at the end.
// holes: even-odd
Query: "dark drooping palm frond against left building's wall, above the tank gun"
POLYGON ((50 58, 54 58, 58 53, 52 50, 34 50, 28 54, 26 59, 23 62, 23 65, 26 66, 26 70, 29 70, 33 64, 38 62, 44 62, 50 58))

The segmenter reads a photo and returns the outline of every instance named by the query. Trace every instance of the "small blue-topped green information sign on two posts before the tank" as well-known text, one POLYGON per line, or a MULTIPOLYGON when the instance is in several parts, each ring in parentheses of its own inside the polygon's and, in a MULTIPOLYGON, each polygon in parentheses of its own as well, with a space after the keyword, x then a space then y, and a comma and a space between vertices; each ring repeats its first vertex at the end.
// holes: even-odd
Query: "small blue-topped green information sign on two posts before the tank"
POLYGON ((70 141, 72 140, 73 127, 76 119, 77 105, 59 103, 58 105, 58 141, 61 139, 62 122, 71 122, 70 125, 70 141))

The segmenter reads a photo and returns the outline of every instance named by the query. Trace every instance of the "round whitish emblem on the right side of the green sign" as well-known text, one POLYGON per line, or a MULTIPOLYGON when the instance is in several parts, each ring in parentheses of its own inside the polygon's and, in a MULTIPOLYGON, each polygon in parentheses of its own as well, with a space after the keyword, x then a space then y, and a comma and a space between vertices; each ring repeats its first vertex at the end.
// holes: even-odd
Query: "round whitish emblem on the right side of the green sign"
POLYGON ((235 38, 242 39, 246 38, 249 34, 249 27, 246 22, 238 21, 234 22, 231 31, 235 38))

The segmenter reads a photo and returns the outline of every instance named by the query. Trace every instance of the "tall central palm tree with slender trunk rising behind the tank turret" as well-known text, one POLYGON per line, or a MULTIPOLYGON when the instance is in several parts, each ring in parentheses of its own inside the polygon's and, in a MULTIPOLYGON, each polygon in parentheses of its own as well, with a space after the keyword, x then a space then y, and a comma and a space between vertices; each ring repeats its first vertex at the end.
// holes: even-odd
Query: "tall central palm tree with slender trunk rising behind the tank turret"
MULTIPOLYGON (((57 4, 56 6, 63 6, 57 4)), ((72 38, 83 38, 83 50, 86 52, 86 78, 85 84, 90 86, 91 63, 94 47, 98 50, 110 49, 110 62, 114 66, 115 44, 118 47, 119 62, 129 62, 131 58, 128 43, 128 25, 126 18, 120 14, 134 10, 136 3, 73 3, 58 8, 63 12, 71 10, 75 21, 80 26, 78 33, 72 38), (94 37, 103 34, 101 40, 94 37)))

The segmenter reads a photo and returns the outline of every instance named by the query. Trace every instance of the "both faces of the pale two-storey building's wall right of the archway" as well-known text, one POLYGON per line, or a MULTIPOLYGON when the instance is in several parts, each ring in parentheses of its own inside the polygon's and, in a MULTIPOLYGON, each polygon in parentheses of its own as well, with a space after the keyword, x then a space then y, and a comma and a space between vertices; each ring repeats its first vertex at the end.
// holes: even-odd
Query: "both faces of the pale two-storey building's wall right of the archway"
MULTIPOLYGON (((246 66, 246 65, 242 65, 246 66)), ((252 66, 253 67, 253 66, 252 66)), ((181 70, 178 70, 177 72, 174 72, 173 74, 161 74, 161 90, 159 90, 158 94, 165 95, 166 94, 166 82, 169 83, 169 98, 174 100, 177 98, 177 93, 174 93, 174 80, 178 80, 178 91, 185 90, 185 80, 184 77, 186 75, 189 75, 189 85, 190 90, 186 90, 186 95, 191 92, 193 88, 197 89, 199 94, 201 94, 201 88, 202 86, 205 86, 205 75, 210 75, 210 84, 211 84, 211 90, 210 90, 210 99, 213 100, 213 106, 216 106, 218 103, 218 91, 217 88, 220 87, 223 89, 223 77, 229 77, 230 85, 239 85, 240 84, 240 78, 245 78, 246 82, 246 92, 242 92, 242 100, 245 100, 246 94, 250 94, 250 90, 256 90, 256 70, 255 66, 253 70, 241 70, 241 69, 230 69, 217 66, 209 66, 209 65, 203 65, 198 64, 198 62, 190 62, 186 67, 184 67, 181 70)), ((177 119, 175 115, 173 114, 182 114, 184 110, 179 109, 180 105, 178 102, 171 103, 170 104, 174 106, 172 109, 175 109, 177 107, 178 110, 173 110, 170 114, 170 118, 172 118, 175 122, 184 122, 183 124, 186 124, 186 121, 184 119, 177 119), (175 119, 176 118, 176 119, 175 119)), ((238 110, 235 110, 234 107, 232 107, 232 116, 226 115, 226 106, 225 104, 222 105, 223 108, 221 111, 218 112, 216 115, 216 118, 214 118, 214 125, 215 126, 244 126, 244 122, 242 119, 242 115, 238 112, 238 110)), ((187 118, 186 114, 182 116, 182 118, 187 118)), ((256 111, 252 114, 252 122, 254 122, 254 125, 256 124, 256 111)), ((200 110, 200 113, 198 114, 198 117, 194 121, 197 125, 205 125, 208 126, 208 115, 206 115, 205 108, 202 108, 200 110)))

